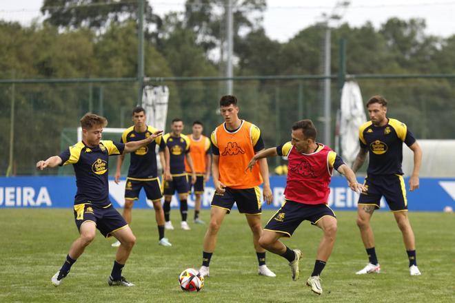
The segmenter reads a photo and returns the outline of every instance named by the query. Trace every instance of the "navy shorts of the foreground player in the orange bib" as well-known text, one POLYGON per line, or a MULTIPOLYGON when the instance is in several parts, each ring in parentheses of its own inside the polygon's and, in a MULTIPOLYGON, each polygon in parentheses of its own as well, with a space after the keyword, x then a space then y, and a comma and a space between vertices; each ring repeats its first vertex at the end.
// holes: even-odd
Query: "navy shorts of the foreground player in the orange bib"
POLYGON ((239 213, 247 215, 259 215, 262 213, 261 208, 261 191, 259 187, 252 187, 247 189, 232 189, 225 188, 223 194, 215 194, 212 199, 212 207, 219 207, 231 212, 234 202, 239 209, 239 213))

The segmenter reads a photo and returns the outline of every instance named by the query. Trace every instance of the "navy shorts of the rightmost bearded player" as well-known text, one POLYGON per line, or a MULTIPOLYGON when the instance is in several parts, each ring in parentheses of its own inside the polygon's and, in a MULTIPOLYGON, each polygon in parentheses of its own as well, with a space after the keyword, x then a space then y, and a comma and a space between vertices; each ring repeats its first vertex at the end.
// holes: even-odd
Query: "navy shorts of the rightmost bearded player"
POLYGON ((401 175, 367 176, 363 183, 367 192, 358 198, 358 205, 379 208, 384 196, 391 211, 407 211, 405 180, 401 175))

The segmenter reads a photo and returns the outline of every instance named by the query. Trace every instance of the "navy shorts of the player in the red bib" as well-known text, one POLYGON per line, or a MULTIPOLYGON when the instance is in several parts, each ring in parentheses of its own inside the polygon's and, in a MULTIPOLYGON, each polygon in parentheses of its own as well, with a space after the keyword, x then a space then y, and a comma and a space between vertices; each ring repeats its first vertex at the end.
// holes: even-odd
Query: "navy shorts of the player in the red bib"
POLYGON ((285 237, 290 237, 302 221, 308 220, 316 225, 325 216, 336 218, 334 211, 325 204, 310 205, 285 200, 281 209, 267 222, 264 230, 283 233, 285 237))

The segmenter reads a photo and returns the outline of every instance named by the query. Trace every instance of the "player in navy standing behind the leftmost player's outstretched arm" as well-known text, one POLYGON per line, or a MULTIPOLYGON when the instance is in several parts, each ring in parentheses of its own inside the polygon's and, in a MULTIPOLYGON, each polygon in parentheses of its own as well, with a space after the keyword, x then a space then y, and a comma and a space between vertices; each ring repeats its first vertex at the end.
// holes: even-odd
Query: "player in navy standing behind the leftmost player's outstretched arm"
MULTIPOLYGON (((150 125, 145 124, 145 109, 138 106, 133 109, 132 121, 134 125, 129 127, 123 132, 120 142, 127 143, 131 141, 139 141, 147 138, 156 129, 150 125)), ((169 158, 169 149, 166 147, 164 140, 159 136, 147 146, 143 146, 140 149, 131 153, 130 168, 128 169, 128 178, 126 178, 125 186, 125 206, 123 207, 123 218, 125 218, 128 224, 131 224, 132 220, 132 206, 134 201, 139 199, 139 192, 143 188, 145 195, 148 200, 153 203, 155 209, 156 224, 158 224, 158 243, 165 247, 170 247, 168 238, 164 237, 164 212, 161 206, 161 185, 158 178, 158 170, 156 169, 156 151, 155 147, 158 145, 163 149, 159 154, 161 160, 161 167, 166 170, 165 163, 166 158, 169 158)), ((125 155, 120 155, 117 158, 117 171, 115 172, 115 182, 119 184, 121 165, 125 155)), ((167 168, 169 169, 169 168, 167 168)), ((114 242, 113 247, 119 247, 120 242, 114 242)))

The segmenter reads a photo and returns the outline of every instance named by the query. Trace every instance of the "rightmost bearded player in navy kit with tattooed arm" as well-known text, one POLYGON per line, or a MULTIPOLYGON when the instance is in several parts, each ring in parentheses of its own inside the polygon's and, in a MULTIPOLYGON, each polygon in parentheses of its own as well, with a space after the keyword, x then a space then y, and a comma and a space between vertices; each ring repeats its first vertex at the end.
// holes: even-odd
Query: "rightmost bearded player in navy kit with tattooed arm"
POLYGON ((374 210, 379 208, 381 197, 384 196, 403 233, 403 241, 410 261, 410 274, 420 275, 416 262, 414 231, 407 217, 406 188, 401 162, 404 142, 414 152, 410 190, 418 189, 418 171, 422 162, 421 147, 404 123, 387 118, 385 98, 373 96, 367 102, 367 109, 371 121, 361 125, 359 129, 361 149, 352 169, 357 171, 363 165, 366 155, 370 155, 365 178, 367 191, 361 194, 357 207, 357 225, 370 262, 361 271, 357 271, 357 274, 381 271, 374 249, 374 234, 370 227, 370 219, 374 210))

